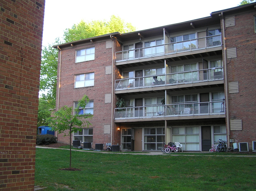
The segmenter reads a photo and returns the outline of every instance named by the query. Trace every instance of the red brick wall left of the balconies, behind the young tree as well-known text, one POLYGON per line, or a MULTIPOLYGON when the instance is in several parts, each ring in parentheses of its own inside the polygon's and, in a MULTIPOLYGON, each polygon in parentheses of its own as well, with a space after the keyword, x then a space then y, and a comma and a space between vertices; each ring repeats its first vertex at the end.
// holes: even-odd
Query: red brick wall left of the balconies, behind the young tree
MULTIPOLYGON (((111 40, 111 39, 108 39, 111 40)), ((104 124, 111 124, 111 103, 105 103, 105 94, 112 93, 112 75, 105 74, 105 67, 112 66, 112 48, 106 49, 106 42, 94 42, 83 46, 71 47, 61 50, 61 75, 60 75, 60 105, 73 107, 74 101, 79 101, 84 95, 93 100, 94 115, 89 119, 93 128, 93 145, 95 143, 111 143, 111 135, 103 133, 104 124), (76 50, 95 47, 95 59, 92 61, 75 63, 76 50), (75 75, 94 72, 94 86, 74 88, 75 75)), ((60 51, 59 51, 60 58, 60 51)), ((58 63, 58 74, 60 61, 58 63)), ((58 79, 59 80, 59 77, 58 79)), ((57 98, 58 98, 57 87, 57 98)), ((58 100, 56 103, 56 108, 58 100)), ((58 141, 69 144, 69 136, 58 134, 58 141)))

